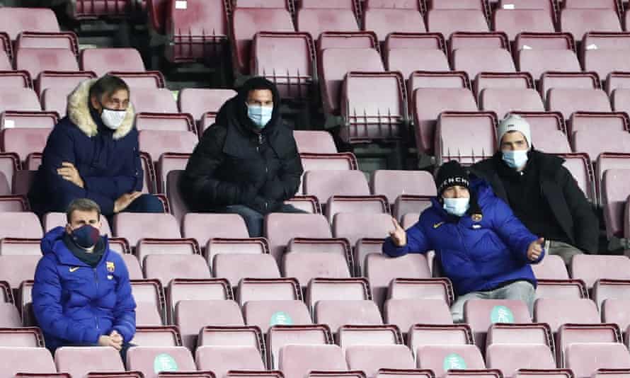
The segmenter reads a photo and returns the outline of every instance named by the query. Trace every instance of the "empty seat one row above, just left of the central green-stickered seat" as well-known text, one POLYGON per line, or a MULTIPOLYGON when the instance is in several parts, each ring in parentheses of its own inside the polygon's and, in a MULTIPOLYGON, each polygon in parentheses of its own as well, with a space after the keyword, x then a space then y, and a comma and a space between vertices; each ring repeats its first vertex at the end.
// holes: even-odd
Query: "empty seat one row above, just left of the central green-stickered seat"
POLYGON ((243 278, 279 278, 275 258, 268 253, 219 253, 212 261, 214 277, 226 278, 232 286, 243 278))

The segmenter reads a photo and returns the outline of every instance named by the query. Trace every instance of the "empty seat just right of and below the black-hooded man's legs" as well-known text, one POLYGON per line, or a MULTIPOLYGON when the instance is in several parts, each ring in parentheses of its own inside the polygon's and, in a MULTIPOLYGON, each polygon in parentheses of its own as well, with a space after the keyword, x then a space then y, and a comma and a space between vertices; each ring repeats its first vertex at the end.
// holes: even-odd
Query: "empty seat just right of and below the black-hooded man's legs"
POLYGON ((294 238, 330 238, 330 224, 320 214, 269 214, 265 217, 265 236, 272 256, 280 261, 294 238))

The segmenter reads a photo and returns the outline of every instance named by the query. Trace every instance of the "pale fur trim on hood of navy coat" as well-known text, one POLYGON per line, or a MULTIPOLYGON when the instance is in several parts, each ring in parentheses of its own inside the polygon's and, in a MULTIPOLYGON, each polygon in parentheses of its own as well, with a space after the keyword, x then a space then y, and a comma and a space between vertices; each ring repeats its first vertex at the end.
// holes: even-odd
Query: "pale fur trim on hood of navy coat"
MULTIPOLYGON (((81 84, 68 96, 68 118, 88 137, 93 137, 98 134, 98 125, 92 118, 89 98, 90 88, 95 82, 96 79, 81 81, 81 84)), ((134 116, 134 108, 130 102, 125 120, 122 121, 122 125, 113 133, 113 139, 120 139, 129 134, 134 126, 134 116)))

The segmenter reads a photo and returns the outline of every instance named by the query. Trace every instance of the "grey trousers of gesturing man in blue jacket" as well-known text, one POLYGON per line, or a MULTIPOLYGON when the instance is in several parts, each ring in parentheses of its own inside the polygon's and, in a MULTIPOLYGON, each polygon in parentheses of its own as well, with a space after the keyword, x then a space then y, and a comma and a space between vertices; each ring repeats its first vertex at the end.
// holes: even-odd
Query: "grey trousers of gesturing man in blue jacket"
POLYGON ((529 315, 534 314, 534 299, 536 290, 534 285, 528 281, 516 281, 510 285, 505 285, 496 290, 488 292, 469 292, 457 298, 451 306, 451 315, 454 323, 464 322, 464 303, 469 299, 520 299, 527 304, 529 315))

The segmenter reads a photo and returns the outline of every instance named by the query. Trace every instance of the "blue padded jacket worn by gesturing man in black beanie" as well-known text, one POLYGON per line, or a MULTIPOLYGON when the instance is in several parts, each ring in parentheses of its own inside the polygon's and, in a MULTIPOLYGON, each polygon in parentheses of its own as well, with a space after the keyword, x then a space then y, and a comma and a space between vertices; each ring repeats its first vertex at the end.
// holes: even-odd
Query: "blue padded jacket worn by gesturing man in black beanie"
POLYGON ((406 231, 406 246, 397 248, 388 238, 384 253, 396 257, 434 250, 442 273, 453 282, 458 295, 493 290, 516 280, 536 285, 529 263, 538 263, 544 253, 532 262, 527 258, 527 248, 537 236, 494 195, 486 181, 473 181, 471 192, 481 209, 481 219, 468 212, 464 217, 453 217, 433 198, 433 206, 406 231))

